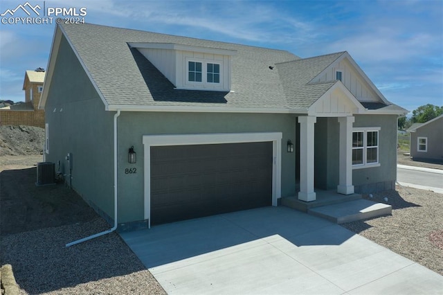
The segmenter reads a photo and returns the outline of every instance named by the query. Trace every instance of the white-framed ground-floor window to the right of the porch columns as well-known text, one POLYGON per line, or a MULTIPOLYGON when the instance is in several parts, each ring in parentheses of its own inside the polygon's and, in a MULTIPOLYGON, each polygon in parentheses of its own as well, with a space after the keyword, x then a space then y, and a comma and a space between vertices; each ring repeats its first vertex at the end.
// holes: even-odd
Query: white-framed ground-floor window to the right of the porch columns
POLYGON ((379 128, 352 132, 352 166, 379 163, 379 128))

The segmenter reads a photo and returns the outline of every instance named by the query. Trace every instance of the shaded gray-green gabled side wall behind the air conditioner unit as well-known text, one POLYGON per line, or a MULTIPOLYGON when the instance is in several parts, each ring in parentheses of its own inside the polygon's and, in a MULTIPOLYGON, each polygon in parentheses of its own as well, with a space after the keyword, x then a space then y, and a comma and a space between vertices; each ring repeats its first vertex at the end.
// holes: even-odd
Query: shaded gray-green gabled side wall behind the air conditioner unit
POLYGON ((80 62, 63 37, 45 106, 50 136, 46 161, 60 161, 69 184, 66 154, 72 153, 72 188, 93 207, 114 216, 114 112, 105 111, 80 62))

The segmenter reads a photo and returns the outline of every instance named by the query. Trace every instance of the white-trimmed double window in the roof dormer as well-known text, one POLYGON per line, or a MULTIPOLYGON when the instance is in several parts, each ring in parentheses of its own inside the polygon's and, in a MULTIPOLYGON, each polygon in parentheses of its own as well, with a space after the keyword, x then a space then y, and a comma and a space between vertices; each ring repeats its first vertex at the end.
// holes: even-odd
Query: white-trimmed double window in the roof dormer
POLYGON ((187 81, 190 84, 198 85, 219 85, 221 84, 221 64, 212 60, 190 59, 186 63, 188 73, 187 81))

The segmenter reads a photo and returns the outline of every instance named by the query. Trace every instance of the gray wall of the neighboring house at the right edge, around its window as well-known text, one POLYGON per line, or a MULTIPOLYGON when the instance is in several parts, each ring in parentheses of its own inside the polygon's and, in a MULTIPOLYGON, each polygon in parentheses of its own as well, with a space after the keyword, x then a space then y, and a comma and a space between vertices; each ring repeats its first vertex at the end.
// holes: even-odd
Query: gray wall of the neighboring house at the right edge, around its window
POLYGON ((410 156, 415 160, 443 162, 443 118, 421 126, 410 133, 410 156), (417 150, 417 138, 427 138, 426 152, 417 150))

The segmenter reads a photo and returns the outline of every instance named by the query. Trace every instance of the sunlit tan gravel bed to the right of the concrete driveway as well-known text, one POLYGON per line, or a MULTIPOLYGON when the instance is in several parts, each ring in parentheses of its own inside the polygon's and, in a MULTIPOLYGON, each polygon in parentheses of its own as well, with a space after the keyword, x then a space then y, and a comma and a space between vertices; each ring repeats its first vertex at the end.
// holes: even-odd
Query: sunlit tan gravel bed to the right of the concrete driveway
POLYGON ((443 276, 443 195, 397 186, 364 197, 392 205, 392 215, 341 225, 443 276))

